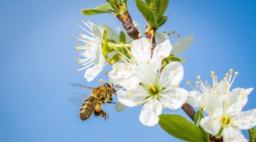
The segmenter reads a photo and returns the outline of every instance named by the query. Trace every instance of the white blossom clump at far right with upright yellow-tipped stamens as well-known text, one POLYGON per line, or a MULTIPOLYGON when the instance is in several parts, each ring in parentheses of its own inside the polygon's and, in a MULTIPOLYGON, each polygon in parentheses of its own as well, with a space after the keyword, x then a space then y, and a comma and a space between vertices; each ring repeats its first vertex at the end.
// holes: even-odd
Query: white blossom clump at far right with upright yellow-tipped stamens
POLYGON ((212 71, 212 87, 207 85, 208 82, 204 84, 198 76, 199 81, 196 84, 199 86, 191 86, 194 91, 189 92, 187 101, 194 107, 203 108, 203 111, 208 114, 200 121, 204 131, 214 136, 222 135, 224 141, 247 141, 241 130, 250 129, 256 125, 256 109, 248 111, 242 111, 242 109, 253 88, 235 88, 229 91, 238 74, 235 72, 232 79, 232 72, 233 69, 230 69, 230 73, 226 73, 223 80, 218 83, 212 71))

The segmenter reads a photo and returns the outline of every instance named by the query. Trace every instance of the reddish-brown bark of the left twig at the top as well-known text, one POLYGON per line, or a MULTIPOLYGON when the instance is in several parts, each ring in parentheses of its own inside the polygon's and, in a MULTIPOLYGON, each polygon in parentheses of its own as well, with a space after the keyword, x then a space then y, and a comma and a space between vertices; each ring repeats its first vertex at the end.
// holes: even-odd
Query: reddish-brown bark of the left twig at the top
POLYGON ((131 17, 129 13, 127 12, 124 16, 121 15, 116 15, 119 21, 122 22, 123 27, 127 31, 127 34, 132 38, 132 39, 139 39, 139 31, 135 28, 135 26, 132 23, 131 17))

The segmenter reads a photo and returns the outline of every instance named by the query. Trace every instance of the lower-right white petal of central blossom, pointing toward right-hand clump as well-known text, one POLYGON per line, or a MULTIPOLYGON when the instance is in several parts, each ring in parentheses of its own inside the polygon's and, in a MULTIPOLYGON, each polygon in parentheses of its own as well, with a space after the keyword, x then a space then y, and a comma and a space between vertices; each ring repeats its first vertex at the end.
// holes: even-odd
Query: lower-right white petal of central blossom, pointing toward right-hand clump
POLYGON ((179 109, 187 100, 188 91, 183 88, 172 87, 163 90, 159 100, 169 109, 179 109))

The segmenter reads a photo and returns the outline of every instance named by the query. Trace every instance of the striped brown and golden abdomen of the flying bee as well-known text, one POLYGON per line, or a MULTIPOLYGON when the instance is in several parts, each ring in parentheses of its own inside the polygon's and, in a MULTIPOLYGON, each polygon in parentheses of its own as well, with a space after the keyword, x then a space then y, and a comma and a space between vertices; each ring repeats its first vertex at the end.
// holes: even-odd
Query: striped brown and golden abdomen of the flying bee
POLYGON ((89 96, 82 104, 79 112, 80 119, 82 121, 88 119, 91 116, 92 112, 95 109, 95 100, 96 98, 94 96, 89 96))

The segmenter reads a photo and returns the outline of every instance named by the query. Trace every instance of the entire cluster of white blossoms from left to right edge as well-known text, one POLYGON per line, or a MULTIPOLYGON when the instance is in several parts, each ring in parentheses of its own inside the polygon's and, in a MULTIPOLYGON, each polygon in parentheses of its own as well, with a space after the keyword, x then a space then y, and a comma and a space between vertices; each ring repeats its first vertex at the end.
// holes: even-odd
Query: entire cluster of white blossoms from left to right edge
MULTIPOLYGON (((84 59, 76 59, 85 70, 84 77, 92 81, 106 64, 112 65, 109 82, 122 89, 116 92, 118 103, 116 110, 125 106, 143 105, 139 120, 145 126, 155 126, 163 108, 179 109, 185 102, 202 109, 208 116, 200 121, 200 126, 207 133, 221 135, 224 141, 246 141, 241 129, 250 129, 256 125, 256 109, 242 111, 253 88, 235 88, 229 91, 238 72, 233 69, 221 82, 212 72, 213 86, 199 79, 194 91, 180 88, 184 69, 184 57, 176 57, 185 51, 193 41, 193 36, 181 38, 172 44, 165 33, 155 33, 156 46, 151 53, 152 38, 132 40, 127 34, 126 41, 121 42, 119 35, 106 25, 96 25, 92 21, 82 23, 86 34, 75 37, 82 42, 76 44, 76 50, 84 59), (171 59, 179 60, 171 60, 171 59)), ((135 24, 141 29, 139 24, 135 24)), ((154 31, 152 31, 154 33, 154 31)), ((138 35, 139 37, 141 34, 138 35)), ((153 36, 153 34, 152 34, 153 36)), ((178 35, 180 37, 180 35, 178 35)), ((102 82, 102 80, 100 80, 102 82)))

